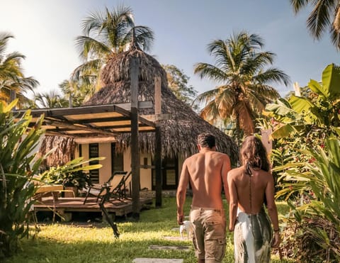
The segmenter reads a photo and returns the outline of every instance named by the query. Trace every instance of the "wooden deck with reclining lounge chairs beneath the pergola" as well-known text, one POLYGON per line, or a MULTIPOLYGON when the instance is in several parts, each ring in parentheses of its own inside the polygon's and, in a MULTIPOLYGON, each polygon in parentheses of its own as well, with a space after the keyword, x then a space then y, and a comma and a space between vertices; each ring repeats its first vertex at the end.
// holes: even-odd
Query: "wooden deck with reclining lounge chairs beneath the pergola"
MULTIPOLYGON (((86 189, 80 196, 66 196, 62 185, 40 186, 35 199, 34 211, 53 211, 58 215, 73 212, 103 212, 115 216, 126 216, 132 212, 131 172, 115 172, 104 184, 86 189)), ((152 196, 140 196, 141 206, 152 203, 152 196)))

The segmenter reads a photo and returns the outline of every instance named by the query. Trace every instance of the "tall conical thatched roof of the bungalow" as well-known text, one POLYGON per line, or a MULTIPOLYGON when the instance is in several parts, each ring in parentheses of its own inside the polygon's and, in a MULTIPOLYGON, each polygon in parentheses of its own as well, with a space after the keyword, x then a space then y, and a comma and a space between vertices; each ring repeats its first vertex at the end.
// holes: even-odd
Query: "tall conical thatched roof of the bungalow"
MULTIPOLYGON (((162 130, 162 156, 188 157, 197 152, 196 138, 200 133, 212 133, 216 137, 217 149, 227 153, 236 163, 237 145, 229 136, 200 118, 186 103, 183 103, 169 89, 166 72, 162 66, 137 47, 120 53, 108 61, 101 74, 103 88, 94 94, 85 105, 130 102, 130 62, 138 57, 139 101, 154 102, 154 77, 162 79, 162 113, 170 113, 171 118, 160 121, 162 130)), ((154 114, 154 108, 140 109, 141 115, 154 114)), ((140 151, 154 154, 154 133, 140 133, 140 151)), ((130 145, 130 134, 118 137, 118 147, 125 150, 130 145)))

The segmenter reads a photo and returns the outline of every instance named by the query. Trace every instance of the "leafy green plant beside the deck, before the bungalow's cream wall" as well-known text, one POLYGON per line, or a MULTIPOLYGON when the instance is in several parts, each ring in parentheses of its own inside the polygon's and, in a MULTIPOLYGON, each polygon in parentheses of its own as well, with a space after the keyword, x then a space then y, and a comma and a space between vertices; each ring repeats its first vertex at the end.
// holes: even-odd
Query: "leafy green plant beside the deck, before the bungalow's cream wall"
POLYGON ((88 164, 91 161, 99 161, 103 159, 104 157, 98 157, 84 160, 84 157, 79 157, 70 162, 67 162, 67 164, 64 164, 62 166, 51 167, 47 171, 43 172, 40 176, 42 181, 45 181, 47 184, 62 184, 64 186, 74 186, 80 190, 92 184, 89 174, 86 174, 84 171, 99 169, 102 167, 101 164, 84 164, 88 164))

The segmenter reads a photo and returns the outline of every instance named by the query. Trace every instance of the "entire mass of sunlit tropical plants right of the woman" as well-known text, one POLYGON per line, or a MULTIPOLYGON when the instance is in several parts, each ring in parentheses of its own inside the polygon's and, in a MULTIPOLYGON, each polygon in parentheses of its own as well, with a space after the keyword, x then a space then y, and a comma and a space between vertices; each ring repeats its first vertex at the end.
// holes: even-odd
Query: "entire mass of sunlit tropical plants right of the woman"
POLYGON ((273 123, 277 198, 292 208, 285 254, 301 262, 339 262, 340 68, 328 65, 322 82, 266 106, 273 123), (293 233, 293 237, 290 235, 293 233))

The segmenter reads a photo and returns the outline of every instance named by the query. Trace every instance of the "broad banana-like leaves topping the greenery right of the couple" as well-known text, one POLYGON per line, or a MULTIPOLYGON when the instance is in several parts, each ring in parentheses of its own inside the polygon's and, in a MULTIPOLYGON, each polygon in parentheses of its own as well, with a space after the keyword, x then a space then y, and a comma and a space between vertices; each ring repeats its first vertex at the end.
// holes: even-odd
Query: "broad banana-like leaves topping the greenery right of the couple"
POLYGON ((279 124, 273 130, 273 138, 306 136, 311 130, 319 137, 339 135, 339 83, 340 69, 331 64, 322 72, 322 83, 308 83, 305 96, 290 95, 267 104, 266 115, 279 124))

